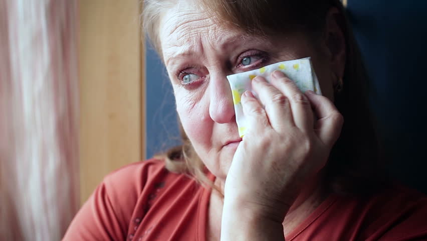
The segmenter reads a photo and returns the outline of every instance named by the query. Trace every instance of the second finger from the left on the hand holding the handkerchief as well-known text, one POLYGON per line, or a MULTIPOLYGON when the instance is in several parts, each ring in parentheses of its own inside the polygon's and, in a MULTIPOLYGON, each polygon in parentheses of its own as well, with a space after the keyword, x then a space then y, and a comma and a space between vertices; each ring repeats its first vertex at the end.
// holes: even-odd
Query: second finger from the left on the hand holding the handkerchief
POLYGON ((261 76, 252 80, 252 87, 257 92, 260 102, 265 106, 273 129, 284 130, 295 126, 289 99, 280 90, 261 76))

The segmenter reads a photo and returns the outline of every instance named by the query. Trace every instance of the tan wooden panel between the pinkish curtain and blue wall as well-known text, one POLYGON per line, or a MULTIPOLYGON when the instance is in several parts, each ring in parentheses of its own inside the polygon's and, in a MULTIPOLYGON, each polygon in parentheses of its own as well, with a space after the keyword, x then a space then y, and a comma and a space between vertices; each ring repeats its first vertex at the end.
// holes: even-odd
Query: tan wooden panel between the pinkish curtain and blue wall
POLYGON ((138 0, 79 1, 80 188, 144 157, 138 0))

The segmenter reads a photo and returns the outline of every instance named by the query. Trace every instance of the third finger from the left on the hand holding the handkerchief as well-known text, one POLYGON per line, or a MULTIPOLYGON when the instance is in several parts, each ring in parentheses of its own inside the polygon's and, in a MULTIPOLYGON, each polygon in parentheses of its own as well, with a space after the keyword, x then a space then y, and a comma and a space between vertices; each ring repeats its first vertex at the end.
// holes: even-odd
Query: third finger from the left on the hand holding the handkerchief
POLYGON ((271 83, 288 97, 295 125, 300 130, 313 130, 313 113, 310 101, 288 76, 279 70, 271 74, 271 83))

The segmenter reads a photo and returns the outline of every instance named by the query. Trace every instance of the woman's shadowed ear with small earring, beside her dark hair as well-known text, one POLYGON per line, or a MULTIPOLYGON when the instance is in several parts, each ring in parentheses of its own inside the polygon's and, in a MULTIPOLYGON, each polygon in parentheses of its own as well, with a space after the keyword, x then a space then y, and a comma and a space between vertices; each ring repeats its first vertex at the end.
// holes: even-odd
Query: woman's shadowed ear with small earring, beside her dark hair
MULTIPOLYGON (((346 60, 346 43, 344 37, 345 18, 337 8, 331 8, 326 15, 326 24, 324 31, 324 44, 330 67, 338 81, 344 76, 346 60)), ((337 83, 333 83, 334 85, 337 83)))

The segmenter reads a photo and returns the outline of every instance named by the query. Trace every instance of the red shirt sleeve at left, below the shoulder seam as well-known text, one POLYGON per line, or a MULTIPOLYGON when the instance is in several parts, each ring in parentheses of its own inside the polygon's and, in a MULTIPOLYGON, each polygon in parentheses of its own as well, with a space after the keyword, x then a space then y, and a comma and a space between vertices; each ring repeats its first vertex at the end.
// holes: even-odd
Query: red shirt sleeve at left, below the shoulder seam
POLYGON ((74 217, 63 241, 126 240, 150 164, 153 162, 131 164, 106 176, 74 217))

